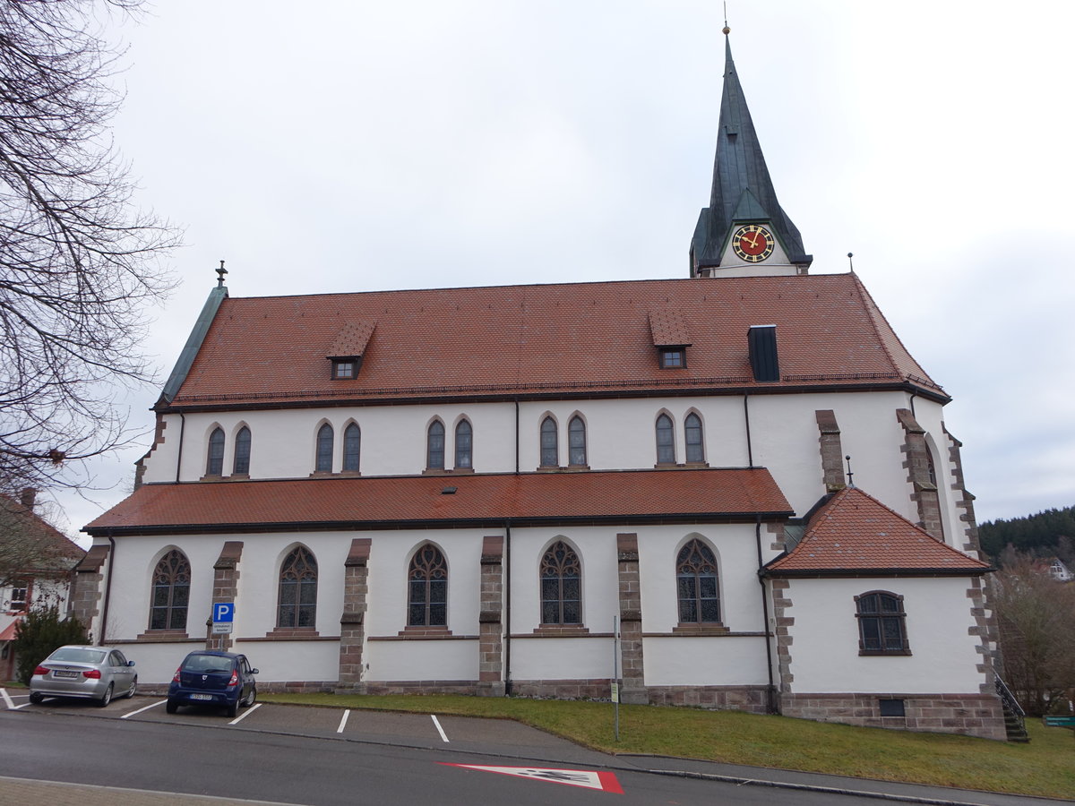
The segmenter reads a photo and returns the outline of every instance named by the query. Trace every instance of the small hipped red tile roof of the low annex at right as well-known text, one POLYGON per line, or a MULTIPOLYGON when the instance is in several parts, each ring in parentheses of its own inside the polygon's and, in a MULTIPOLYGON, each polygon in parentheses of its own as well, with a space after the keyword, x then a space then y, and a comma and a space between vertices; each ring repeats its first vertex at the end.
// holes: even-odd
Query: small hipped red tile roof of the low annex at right
POLYGON ((769 576, 841 573, 983 574, 987 563, 933 538, 872 495, 847 487, 809 519, 799 545, 766 566, 769 576))

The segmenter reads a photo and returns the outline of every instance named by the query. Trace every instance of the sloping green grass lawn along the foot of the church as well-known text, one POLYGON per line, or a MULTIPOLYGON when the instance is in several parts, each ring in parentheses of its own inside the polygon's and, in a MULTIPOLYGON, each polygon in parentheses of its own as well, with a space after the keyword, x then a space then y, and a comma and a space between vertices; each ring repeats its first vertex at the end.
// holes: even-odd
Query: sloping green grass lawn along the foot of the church
POLYGON ((605 752, 653 753, 890 781, 1075 798, 1075 738, 1030 719, 1028 745, 736 711, 449 695, 268 694, 276 703, 514 719, 605 752))

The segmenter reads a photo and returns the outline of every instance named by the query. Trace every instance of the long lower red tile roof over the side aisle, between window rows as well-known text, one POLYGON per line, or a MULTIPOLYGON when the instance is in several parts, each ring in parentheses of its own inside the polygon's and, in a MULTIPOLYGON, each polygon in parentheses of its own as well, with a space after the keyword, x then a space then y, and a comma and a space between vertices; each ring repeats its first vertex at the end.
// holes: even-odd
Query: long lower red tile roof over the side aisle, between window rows
POLYGON ((144 485, 84 531, 360 529, 791 515, 763 469, 305 478, 144 485), (456 488, 444 494, 445 488, 456 488))

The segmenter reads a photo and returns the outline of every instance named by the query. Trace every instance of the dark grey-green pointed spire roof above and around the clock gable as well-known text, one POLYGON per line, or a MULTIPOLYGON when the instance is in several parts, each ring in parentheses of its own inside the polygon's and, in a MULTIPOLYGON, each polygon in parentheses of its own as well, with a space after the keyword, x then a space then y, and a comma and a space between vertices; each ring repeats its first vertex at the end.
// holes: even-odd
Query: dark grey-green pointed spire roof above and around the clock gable
MULTIPOLYGON (((754 130, 743 87, 725 38, 725 90, 720 98, 720 129, 713 165, 713 193, 702 210, 691 240, 694 265, 720 264, 720 253, 736 221, 769 220, 792 263, 809 263, 802 235, 776 200, 765 157, 754 130)), ((693 269, 693 267, 691 267, 693 269)))

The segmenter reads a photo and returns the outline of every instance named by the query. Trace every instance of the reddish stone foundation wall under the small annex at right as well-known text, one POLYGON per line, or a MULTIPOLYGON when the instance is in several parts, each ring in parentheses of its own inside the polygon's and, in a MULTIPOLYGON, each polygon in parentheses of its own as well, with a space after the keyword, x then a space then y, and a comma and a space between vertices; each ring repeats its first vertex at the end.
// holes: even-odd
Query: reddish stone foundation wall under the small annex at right
POLYGON ((862 728, 961 733, 1006 740, 1004 711, 989 694, 782 694, 780 713, 862 728), (882 700, 902 700, 904 716, 880 716, 882 700))

